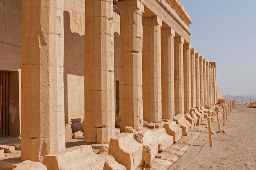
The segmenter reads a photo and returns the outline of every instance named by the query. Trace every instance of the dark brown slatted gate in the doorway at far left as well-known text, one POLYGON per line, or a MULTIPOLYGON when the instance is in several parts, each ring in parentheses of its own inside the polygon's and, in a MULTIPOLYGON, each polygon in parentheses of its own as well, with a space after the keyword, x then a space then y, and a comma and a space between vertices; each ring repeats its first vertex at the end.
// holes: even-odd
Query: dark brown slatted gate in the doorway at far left
POLYGON ((10 72, 0 71, 0 137, 9 136, 10 72))

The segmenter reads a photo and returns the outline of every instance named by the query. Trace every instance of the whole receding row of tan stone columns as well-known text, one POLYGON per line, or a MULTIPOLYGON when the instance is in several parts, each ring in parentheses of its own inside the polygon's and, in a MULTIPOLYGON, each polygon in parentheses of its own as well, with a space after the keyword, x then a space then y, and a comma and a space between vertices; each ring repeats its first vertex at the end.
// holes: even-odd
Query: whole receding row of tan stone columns
MULTIPOLYGON (((22 5, 22 124, 31 125, 22 126, 22 160, 42 161, 44 155, 65 149, 63 0, 35 2, 24 0, 22 5), (29 130, 34 124, 38 129, 29 130)), ((195 106, 216 102, 216 63, 195 53, 187 38, 149 13, 140 0, 119 1, 117 7, 121 131, 125 126, 141 130, 144 120, 173 120, 195 106)), ((108 143, 115 136, 113 13, 113 0, 85 0, 88 143, 108 143)))

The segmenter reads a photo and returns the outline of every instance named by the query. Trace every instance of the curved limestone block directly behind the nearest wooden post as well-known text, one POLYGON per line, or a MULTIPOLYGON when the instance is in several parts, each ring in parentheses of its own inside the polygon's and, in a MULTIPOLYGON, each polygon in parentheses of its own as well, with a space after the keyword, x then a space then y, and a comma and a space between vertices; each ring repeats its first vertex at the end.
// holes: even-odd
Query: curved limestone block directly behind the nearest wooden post
POLYGON ((149 146, 151 148, 151 157, 155 157, 158 153, 158 139, 153 135, 151 130, 142 129, 133 135, 134 139, 143 144, 142 159, 145 160, 146 148, 149 146))

